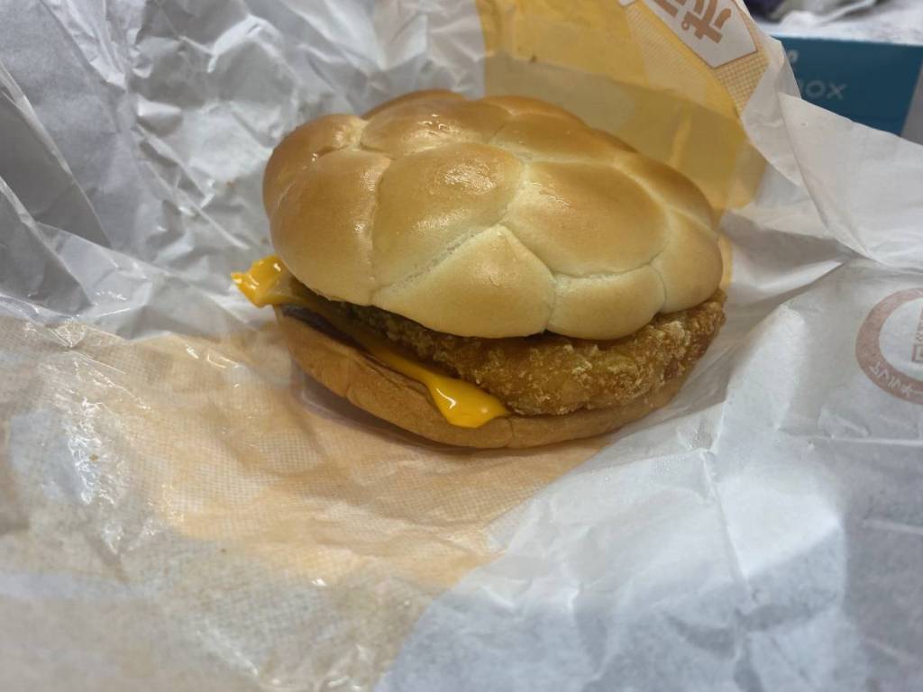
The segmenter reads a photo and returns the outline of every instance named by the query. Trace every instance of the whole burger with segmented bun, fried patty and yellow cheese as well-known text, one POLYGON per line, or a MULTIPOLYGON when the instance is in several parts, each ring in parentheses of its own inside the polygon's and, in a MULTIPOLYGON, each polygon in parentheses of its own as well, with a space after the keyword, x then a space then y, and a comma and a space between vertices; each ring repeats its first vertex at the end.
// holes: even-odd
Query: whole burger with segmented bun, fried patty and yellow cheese
POLYGON ((414 92, 302 125, 234 275, 294 361, 431 440, 533 447, 664 406, 724 322, 715 215, 567 111, 414 92))

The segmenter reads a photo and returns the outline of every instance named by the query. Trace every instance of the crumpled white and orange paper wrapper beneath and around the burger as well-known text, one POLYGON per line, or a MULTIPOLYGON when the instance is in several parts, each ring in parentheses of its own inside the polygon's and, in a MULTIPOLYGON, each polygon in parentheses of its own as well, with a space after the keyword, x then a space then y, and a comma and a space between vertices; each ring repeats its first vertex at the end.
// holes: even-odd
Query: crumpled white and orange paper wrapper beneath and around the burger
POLYGON ((921 220, 923 149, 800 101, 733 0, 0 3, 0 689, 920 688, 921 220), (430 87, 722 212, 671 405, 434 446, 234 292, 272 146, 430 87))

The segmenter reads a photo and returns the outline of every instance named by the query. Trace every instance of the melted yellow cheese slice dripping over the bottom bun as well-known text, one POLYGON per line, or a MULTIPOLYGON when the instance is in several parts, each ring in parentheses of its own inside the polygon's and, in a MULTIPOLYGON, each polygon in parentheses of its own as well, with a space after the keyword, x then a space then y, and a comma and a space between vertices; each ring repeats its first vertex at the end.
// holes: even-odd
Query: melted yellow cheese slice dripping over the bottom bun
POLYGON ((306 292, 294 280, 279 257, 270 255, 258 259, 246 272, 233 274, 232 279, 257 307, 300 305, 322 316, 333 327, 352 337, 376 360, 422 383, 429 390, 438 411, 452 425, 477 428, 498 416, 509 415, 497 397, 457 377, 446 375, 432 365, 421 363, 396 344, 330 310, 322 299, 306 292))

